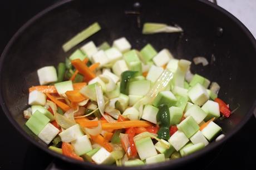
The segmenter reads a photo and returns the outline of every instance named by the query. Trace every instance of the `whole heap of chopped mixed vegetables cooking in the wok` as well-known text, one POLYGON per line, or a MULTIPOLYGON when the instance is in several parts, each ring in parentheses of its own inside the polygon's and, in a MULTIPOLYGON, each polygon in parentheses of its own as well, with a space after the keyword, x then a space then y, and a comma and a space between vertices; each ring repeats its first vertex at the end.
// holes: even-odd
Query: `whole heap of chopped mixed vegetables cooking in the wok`
MULTIPOLYGON (((95 23, 81 34, 99 29, 95 23)), ((77 35, 63 49, 82 41, 77 35)), ((24 118, 49 149, 79 161, 139 166, 184 157, 213 141, 221 132, 215 119, 231 113, 217 98, 219 85, 208 89, 210 81, 168 49, 139 51, 122 37, 112 46, 87 42, 63 61, 38 69, 24 118)))

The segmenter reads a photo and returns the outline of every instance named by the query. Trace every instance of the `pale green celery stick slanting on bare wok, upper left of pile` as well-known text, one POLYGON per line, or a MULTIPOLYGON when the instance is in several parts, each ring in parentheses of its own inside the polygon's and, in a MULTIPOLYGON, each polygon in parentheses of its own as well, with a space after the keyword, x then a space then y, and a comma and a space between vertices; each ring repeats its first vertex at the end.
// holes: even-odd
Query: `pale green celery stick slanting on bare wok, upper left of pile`
POLYGON ((70 50, 71 48, 75 47, 77 44, 84 41, 86 38, 92 36, 96 32, 100 31, 101 27, 99 23, 95 22, 91 24, 89 27, 83 29, 80 33, 76 34, 75 37, 71 38, 65 44, 63 44, 62 48, 65 52, 70 50))

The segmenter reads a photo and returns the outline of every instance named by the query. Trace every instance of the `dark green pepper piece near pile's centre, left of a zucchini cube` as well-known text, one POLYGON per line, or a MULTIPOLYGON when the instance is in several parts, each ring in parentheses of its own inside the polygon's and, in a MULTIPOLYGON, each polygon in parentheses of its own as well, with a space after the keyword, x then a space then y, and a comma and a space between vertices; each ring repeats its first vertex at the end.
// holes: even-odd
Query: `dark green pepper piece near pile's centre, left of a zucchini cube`
POLYGON ((134 76, 134 74, 137 73, 136 71, 125 71, 121 74, 121 84, 120 84, 120 92, 123 94, 128 95, 129 89, 129 81, 134 76))

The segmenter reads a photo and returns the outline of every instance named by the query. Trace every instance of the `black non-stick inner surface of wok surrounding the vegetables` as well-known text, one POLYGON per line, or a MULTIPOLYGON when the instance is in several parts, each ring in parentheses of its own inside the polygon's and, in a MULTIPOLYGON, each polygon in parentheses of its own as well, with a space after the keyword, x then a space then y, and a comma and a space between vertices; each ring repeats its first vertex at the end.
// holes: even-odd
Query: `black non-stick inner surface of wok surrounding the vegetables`
MULTIPOLYGON (((24 126, 22 112, 28 107, 28 88, 38 84, 36 71, 43 66, 62 62, 77 47, 93 41, 95 44, 126 37, 135 49, 151 43, 157 51, 168 48, 175 58, 204 56, 215 61, 206 67, 193 66, 199 73, 220 84, 219 97, 238 110, 229 119, 218 121, 228 139, 238 131, 254 111, 256 80, 254 76, 256 43, 252 34, 224 9, 201 1, 139 1, 141 23, 161 22, 178 24, 184 33, 142 35, 137 27, 137 16, 125 14, 134 11, 135 1, 65 1, 48 8, 26 23, 8 43, 1 57, 1 106, 13 125, 30 141, 54 156, 90 168, 120 169, 77 162, 47 150, 24 126), (53 9, 53 10, 52 10, 53 9), (102 29, 85 42, 65 53, 62 44, 93 22, 102 29), (220 32, 223 29, 223 32, 220 32), (30 137, 29 137, 30 136, 30 137), (35 139, 33 139, 35 138, 35 139)), ((142 25, 141 25, 142 27, 142 25)), ((224 139, 225 141, 225 139, 224 139)), ((222 141, 223 142, 223 141, 222 141)), ((152 166, 132 169, 169 168, 201 156, 221 144, 214 142, 195 154, 152 166)))

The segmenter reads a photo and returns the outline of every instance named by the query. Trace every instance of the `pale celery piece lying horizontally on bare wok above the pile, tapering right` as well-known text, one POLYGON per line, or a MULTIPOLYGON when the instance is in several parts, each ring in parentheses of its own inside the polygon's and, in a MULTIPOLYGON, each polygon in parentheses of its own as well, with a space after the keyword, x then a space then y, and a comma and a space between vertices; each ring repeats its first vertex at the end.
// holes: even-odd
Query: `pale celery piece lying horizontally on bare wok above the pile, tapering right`
POLYGON ((183 32, 180 27, 168 26, 164 23, 144 23, 142 34, 154 34, 159 32, 183 32))

